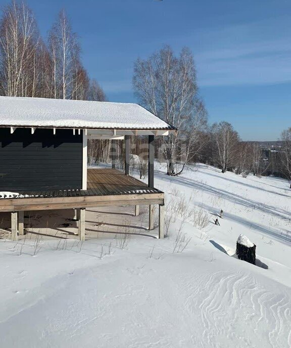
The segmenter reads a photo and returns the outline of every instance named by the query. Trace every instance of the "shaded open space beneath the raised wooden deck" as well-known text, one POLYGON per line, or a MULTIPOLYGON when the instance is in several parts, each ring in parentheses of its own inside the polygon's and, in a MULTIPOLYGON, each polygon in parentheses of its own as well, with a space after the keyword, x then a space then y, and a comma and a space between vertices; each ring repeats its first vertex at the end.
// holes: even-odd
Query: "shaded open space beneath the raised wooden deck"
MULTIPOLYGON (((79 239, 78 216, 74 209, 25 211, 24 233, 18 239, 79 239)), ((0 239, 10 239, 11 213, 0 214, 0 239)), ((158 235, 158 214, 155 209, 153 229, 149 229, 149 207, 141 205, 139 214, 134 206, 87 208, 85 214, 85 240, 94 238, 122 238, 124 234, 140 237, 158 235), (116 237, 117 236, 117 237, 116 237)), ((115 244, 115 243, 114 243, 115 244)))

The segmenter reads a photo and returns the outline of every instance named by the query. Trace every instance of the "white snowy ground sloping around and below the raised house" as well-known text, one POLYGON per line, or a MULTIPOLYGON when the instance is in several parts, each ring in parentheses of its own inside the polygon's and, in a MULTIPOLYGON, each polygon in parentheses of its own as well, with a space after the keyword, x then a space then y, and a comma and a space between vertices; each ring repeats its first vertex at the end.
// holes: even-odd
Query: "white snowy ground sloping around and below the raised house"
POLYGON ((164 240, 0 240, 1 346, 291 346, 288 183, 205 165, 164 172, 164 240), (257 266, 231 257, 239 234, 257 266))

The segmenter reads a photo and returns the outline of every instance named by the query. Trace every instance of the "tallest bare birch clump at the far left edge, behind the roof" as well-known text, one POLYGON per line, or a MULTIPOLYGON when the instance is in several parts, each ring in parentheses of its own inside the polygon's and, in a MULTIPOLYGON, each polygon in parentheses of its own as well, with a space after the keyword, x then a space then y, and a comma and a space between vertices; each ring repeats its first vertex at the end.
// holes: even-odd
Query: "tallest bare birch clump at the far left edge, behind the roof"
POLYGON ((1 90, 6 96, 36 95, 39 33, 32 11, 13 1, 0 21, 1 90))

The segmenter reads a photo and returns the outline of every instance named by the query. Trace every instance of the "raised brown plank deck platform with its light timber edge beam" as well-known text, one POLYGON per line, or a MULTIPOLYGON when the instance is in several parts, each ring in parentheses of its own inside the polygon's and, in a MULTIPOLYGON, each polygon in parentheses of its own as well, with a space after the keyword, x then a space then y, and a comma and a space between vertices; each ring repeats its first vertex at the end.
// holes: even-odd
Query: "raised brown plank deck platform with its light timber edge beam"
POLYGON ((164 193, 117 169, 88 169, 87 190, 19 191, 29 197, 0 199, 0 211, 164 204, 164 193))

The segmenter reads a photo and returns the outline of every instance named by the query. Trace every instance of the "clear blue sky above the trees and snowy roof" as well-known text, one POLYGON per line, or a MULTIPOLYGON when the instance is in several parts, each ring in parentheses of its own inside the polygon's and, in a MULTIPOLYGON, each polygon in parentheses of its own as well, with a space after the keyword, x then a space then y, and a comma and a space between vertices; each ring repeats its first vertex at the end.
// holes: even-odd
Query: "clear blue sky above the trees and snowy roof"
MULTIPOLYGON (((0 4, 6 4, 0 0, 0 4)), ((289 0, 28 0, 46 36, 61 8, 85 68, 110 101, 135 102, 133 62, 163 45, 188 46, 210 122, 243 140, 277 140, 291 126, 289 0)))

